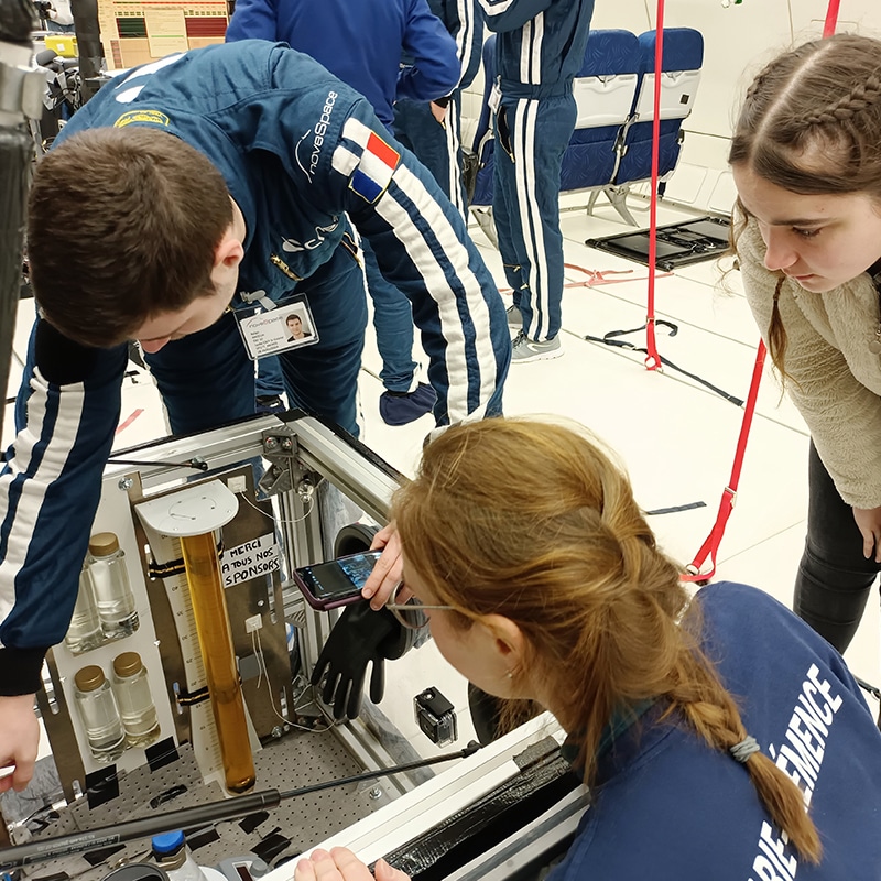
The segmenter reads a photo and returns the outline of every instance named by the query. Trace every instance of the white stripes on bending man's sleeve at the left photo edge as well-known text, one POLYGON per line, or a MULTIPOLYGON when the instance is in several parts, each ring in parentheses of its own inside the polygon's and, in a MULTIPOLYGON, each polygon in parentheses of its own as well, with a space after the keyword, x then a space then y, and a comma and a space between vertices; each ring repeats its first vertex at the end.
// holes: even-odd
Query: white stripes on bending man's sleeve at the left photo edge
POLYGON ((4 621, 15 603, 15 578, 24 565, 34 537, 34 524, 46 489, 64 470, 70 450, 78 436, 78 427, 85 404, 85 387, 83 383, 65 385, 64 391, 54 392, 59 399, 55 424, 52 426, 51 442, 43 439, 43 432, 48 415, 48 383, 34 370, 31 380, 32 393, 28 399, 28 425, 15 437, 15 457, 7 463, 7 472, 0 475, 0 524, 8 529, 8 544, 0 559, 0 621, 4 621), (35 448, 40 446, 42 456, 34 474, 24 477, 34 461, 35 448), (20 492, 13 493, 18 499, 14 512, 10 512, 10 489, 13 483, 20 492), (31 524, 30 529, 19 529, 15 524, 7 524, 12 515, 17 523, 31 524))

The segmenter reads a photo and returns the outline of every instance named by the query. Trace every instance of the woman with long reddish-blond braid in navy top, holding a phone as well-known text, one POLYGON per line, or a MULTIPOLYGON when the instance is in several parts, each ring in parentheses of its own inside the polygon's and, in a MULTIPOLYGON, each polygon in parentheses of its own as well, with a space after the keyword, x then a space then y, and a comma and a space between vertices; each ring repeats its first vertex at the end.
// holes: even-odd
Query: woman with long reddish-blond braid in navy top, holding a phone
MULTIPOLYGON (((548 881, 878 879, 881 733, 840 654, 754 588, 690 598, 584 429, 449 428, 392 513, 444 657, 568 732, 594 798, 548 881)), ((366 871, 335 849, 295 881, 366 871)))

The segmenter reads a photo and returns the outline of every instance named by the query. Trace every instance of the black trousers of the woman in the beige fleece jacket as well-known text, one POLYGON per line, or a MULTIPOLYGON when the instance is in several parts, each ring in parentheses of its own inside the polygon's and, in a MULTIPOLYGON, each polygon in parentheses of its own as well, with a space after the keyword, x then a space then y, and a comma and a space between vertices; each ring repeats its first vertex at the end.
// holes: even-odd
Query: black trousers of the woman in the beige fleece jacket
POLYGON ((881 564, 862 555, 851 507, 838 494, 814 443, 808 458, 807 537, 793 609, 844 654, 881 564))

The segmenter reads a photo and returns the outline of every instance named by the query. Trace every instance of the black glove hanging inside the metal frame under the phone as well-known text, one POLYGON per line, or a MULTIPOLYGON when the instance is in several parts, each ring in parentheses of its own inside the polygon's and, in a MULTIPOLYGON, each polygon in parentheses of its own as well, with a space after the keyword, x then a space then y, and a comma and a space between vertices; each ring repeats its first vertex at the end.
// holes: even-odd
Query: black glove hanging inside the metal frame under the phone
POLYGON ((383 659, 400 657, 411 644, 406 629, 390 611, 373 611, 368 600, 359 599, 334 624, 312 672, 312 684, 325 679, 322 699, 333 703, 335 719, 354 719, 361 710, 368 663, 373 664, 370 699, 379 704, 385 690, 383 659))

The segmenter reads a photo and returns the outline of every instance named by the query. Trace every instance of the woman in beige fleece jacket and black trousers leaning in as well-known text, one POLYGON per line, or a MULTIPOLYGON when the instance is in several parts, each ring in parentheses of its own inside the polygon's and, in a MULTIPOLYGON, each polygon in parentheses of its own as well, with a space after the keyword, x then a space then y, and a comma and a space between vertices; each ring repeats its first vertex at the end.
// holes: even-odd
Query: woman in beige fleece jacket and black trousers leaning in
POLYGON ((812 438, 793 608, 844 652, 881 569, 881 42, 772 61, 729 162, 747 298, 812 438))

